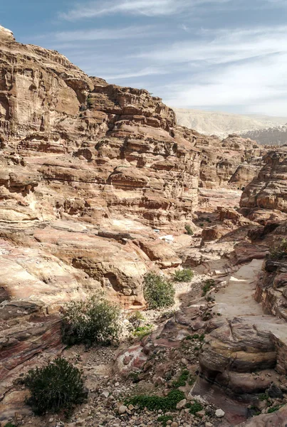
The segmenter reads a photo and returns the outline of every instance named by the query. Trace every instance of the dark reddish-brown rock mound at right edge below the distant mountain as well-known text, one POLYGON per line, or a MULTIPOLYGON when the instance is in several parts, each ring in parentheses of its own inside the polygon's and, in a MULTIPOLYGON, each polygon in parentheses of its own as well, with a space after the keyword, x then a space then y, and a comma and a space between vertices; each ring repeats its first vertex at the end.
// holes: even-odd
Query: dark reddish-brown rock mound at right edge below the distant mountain
POLYGON ((259 174, 244 190, 240 206, 250 218, 268 218, 274 211, 287 214, 287 147, 278 147, 263 157, 265 163, 259 174), (263 212, 264 216, 264 212, 263 212))

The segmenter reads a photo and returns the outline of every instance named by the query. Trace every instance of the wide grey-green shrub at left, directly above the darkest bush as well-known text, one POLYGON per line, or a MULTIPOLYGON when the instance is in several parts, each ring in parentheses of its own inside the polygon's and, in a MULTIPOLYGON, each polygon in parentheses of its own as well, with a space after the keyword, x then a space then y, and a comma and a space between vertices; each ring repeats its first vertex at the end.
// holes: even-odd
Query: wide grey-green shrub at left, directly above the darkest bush
POLYGON ((63 310, 65 344, 110 344, 121 331, 120 309, 98 292, 84 301, 69 302, 63 310))

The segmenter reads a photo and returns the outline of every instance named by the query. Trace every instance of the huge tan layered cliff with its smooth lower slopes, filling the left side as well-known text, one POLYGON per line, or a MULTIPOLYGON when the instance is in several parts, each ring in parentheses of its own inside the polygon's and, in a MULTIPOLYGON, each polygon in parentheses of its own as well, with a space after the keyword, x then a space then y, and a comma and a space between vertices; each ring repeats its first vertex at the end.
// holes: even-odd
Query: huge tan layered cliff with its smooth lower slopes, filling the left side
POLYGON ((61 346, 63 302, 103 289, 144 307, 145 273, 181 263, 152 228, 192 221, 199 156, 160 98, 0 28, 0 396, 61 346))

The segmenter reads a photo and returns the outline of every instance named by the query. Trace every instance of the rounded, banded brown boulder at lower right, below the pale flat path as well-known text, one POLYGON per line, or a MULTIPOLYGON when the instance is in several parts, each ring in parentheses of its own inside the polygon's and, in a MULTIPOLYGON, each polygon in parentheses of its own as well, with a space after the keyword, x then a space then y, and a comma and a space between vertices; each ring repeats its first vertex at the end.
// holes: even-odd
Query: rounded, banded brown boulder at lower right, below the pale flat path
POLYGON ((272 316, 238 317, 217 322, 202 349, 204 376, 234 396, 261 393, 286 375, 286 324, 272 316), (257 371, 256 376, 253 372, 257 371))

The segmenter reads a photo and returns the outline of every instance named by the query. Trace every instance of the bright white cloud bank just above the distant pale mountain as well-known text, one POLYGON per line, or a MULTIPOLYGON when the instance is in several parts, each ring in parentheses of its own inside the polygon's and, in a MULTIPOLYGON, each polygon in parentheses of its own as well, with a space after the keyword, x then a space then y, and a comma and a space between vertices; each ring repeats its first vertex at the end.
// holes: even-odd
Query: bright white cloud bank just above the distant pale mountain
POLYGON ((171 106, 241 105, 246 112, 287 116, 287 53, 229 64, 200 78, 166 88, 171 106), (169 95, 168 95, 169 93, 169 95))

